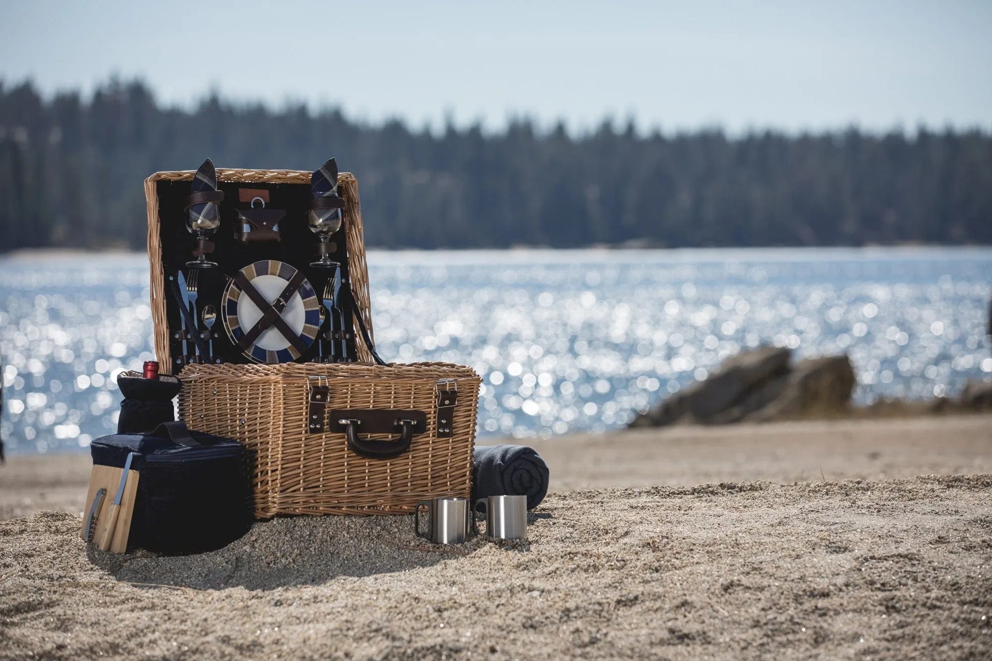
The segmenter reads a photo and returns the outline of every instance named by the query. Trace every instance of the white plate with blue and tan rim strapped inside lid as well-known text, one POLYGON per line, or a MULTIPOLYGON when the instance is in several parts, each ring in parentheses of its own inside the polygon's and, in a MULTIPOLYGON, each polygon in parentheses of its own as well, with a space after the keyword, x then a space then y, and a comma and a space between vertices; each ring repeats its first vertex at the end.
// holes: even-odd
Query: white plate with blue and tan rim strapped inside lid
MULTIPOLYGON (((263 259, 244 267, 241 273, 266 301, 272 302, 283 293, 297 274, 297 269, 286 262, 263 259)), ((300 289, 287 303, 282 317, 307 346, 313 343, 320 328, 320 302, 310 281, 304 279, 300 289)), ((220 318, 231 341, 237 344, 246 332, 254 328, 262 313, 254 301, 241 291, 237 282, 231 280, 221 299, 220 318)), ((250 360, 270 364, 293 362, 301 356, 300 351, 275 326, 256 337, 244 353, 250 360)))

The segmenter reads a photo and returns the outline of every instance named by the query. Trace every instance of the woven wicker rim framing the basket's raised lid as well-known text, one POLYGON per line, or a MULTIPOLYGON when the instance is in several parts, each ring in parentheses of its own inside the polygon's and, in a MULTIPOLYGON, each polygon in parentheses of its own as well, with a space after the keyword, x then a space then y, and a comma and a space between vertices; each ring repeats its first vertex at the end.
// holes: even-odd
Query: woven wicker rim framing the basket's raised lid
MULTIPOLYGON (((172 373, 172 355, 169 349, 169 327, 166 323, 166 283, 162 267, 162 239, 159 232, 159 198, 155 183, 168 179, 191 181, 193 170, 158 172, 145 180, 145 200, 148 207, 148 259, 152 277, 152 323, 155 328, 155 353, 163 374, 172 373)), ((306 184, 310 186, 310 173, 301 170, 231 170, 217 168, 217 181, 235 184, 306 184)), ((348 273, 351 290, 361 310, 365 326, 372 335, 372 314, 369 298, 369 274, 365 261, 365 233, 362 228, 362 209, 358 199, 358 180, 350 173, 337 176, 341 198, 344 198, 343 223, 347 232, 348 273)), ((355 324, 357 327, 357 324, 355 324)), ((374 335, 372 335, 374 341, 374 335)), ((358 360, 372 362, 372 354, 357 342, 358 360)))

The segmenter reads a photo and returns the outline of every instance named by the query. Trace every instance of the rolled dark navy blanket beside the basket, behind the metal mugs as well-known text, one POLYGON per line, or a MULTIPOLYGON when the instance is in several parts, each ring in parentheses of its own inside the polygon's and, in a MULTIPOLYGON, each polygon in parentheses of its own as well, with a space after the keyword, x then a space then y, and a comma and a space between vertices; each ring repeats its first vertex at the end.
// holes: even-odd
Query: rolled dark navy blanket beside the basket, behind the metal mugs
POLYGON ((475 446, 472 502, 491 495, 526 495, 534 509, 548 495, 548 464, 525 446, 475 446))

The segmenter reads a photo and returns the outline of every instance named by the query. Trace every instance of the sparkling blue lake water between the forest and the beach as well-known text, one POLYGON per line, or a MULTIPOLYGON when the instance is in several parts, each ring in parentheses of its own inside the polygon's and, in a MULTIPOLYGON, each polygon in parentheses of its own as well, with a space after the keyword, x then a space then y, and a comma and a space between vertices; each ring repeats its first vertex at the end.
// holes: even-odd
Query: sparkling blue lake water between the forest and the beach
MULTIPOLYGON (((481 436, 623 426, 743 347, 847 352, 855 399, 992 378, 992 249, 370 252, 387 360, 484 376, 481 436)), ((153 359, 144 255, 0 258, 11 452, 116 427, 115 378, 153 359)))

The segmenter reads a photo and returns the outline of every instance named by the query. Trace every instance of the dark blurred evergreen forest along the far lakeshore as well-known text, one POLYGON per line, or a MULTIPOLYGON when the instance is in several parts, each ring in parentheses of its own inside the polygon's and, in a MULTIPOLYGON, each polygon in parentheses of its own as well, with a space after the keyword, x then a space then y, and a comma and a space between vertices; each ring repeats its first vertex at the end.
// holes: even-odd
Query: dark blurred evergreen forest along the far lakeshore
POLYGON ((604 122, 571 137, 518 120, 433 134, 215 95, 181 110, 111 81, 89 98, 0 83, 0 250, 141 249, 151 173, 330 156, 358 177, 370 246, 992 243, 985 131, 642 136, 604 122))

